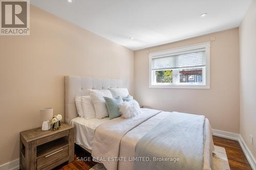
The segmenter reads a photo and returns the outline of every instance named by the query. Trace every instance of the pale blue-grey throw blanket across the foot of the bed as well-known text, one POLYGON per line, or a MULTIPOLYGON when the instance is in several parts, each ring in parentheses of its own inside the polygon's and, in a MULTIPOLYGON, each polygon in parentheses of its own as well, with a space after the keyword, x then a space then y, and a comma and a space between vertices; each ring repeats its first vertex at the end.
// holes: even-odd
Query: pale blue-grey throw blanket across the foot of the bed
POLYGON ((204 121, 203 115, 170 113, 138 141, 134 169, 202 169, 204 121))

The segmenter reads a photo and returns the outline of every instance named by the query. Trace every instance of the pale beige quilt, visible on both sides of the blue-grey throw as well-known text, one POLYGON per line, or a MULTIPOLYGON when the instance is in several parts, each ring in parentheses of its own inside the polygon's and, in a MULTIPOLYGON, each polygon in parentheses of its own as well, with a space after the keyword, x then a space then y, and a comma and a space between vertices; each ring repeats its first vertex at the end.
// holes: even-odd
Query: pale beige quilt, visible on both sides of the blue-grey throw
MULTIPOLYGON (((133 169, 133 161, 127 159, 135 156, 135 147, 140 138, 155 127, 170 112, 153 109, 142 109, 134 118, 115 118, 100 125, 93 140, 92 156, 108 169, 133 169), (114 158, 126 158, 125 161, 114 158), (111 158, 111 160, 109 160, 111 158)), ((204 165, 203 169, 212 167, 212 130, 208 119, 204 125, 204 165)))

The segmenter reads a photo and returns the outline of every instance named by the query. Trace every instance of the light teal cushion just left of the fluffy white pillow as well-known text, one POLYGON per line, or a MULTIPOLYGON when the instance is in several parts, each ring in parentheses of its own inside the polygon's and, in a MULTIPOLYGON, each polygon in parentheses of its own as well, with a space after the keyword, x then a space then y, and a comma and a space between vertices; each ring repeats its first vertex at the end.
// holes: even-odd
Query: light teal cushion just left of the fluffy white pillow
POLYGON ((122 98, 120 96, 117 96, 116 98, 103 98, 106 102, 106 108, 108 109, 110 119, 121 116, 119 112, 119 107, 123 103, 122 98))

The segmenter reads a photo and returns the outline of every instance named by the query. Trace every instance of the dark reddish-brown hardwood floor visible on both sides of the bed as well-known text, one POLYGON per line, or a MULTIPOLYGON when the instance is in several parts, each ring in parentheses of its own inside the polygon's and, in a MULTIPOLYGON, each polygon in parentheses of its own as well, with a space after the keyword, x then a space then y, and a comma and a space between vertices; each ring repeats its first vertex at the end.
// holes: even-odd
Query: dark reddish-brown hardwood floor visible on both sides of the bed
MULTIPOLYGON (((217 136, 214 136, 213 139, 214 139, 215 145, 225 148, 227 153, 228 163, 231 170, 251 169, 249 162, 247 161, 238 141, 225 139, 217 136)), ((61 170, 61 169, 62 170, 80 170, 80 169, 88 170, 96 164, 96 162, 88 161, 88 160, 78 161, 77 158, 81 158, 81 157, 86 157, 86 158, 90 157, 92 159, 92 157, 88 152, 83 151, 80 147, 76 145, 75 161, 69 164, 67 163, 62 164, 54 169, 55 170, 61 170)))

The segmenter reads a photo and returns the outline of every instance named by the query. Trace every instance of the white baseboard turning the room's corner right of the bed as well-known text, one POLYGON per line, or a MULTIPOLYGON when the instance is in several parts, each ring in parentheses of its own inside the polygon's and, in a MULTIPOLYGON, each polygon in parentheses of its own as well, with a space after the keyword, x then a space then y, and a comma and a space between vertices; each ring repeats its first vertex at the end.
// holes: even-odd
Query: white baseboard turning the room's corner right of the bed
POLYGON ((215 136, 227 138, 227 139, 232 139, 232 140, 237 140, 249 162, 251 165, 251 168, 253 170, 256 170, 256 161, 253 155, 251 154, 250 150, 248 149, 246 143, 244 142, 244 139, 240 134, 237 133, 231 133, 231 132, 225 132, 225 131, 220 131, 220 130, 213 130, 215 136))

